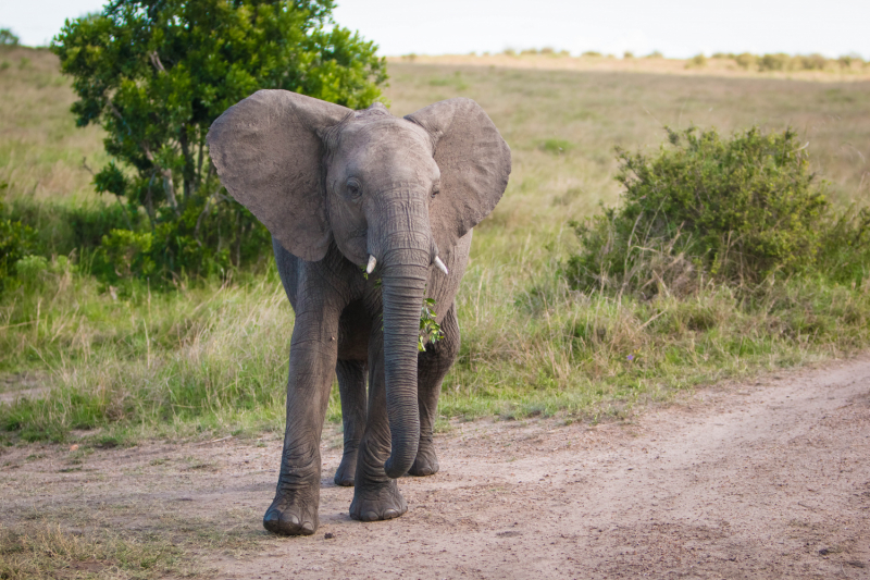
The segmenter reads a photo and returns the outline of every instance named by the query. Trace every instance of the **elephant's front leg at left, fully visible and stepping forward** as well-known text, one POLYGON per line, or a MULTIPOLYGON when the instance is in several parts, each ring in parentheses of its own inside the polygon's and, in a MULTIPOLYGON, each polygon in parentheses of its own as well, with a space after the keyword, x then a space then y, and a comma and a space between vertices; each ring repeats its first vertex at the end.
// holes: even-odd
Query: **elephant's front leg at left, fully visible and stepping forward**
POLYGON ((333 310, 322 303, 297 310, 281 476, 263 517, 271 532, 310 535, 318 529, 320 437, 337 356, 338 310, 333 310))

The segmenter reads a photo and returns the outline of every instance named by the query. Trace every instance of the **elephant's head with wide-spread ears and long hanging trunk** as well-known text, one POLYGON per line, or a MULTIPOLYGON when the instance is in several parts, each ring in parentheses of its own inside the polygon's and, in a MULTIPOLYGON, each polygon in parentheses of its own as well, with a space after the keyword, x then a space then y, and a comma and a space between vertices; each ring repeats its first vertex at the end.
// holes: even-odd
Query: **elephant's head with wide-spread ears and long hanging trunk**
POLYGON ((428 270, 496 206, 510 149, 477 103, 440 101, 403 119, 285 90, 261 90, 209 132, 221 181, 290 254, 323 259, 334 240, 377 269, 393 451, 400 477, 420 436, 417 341, 428 270))

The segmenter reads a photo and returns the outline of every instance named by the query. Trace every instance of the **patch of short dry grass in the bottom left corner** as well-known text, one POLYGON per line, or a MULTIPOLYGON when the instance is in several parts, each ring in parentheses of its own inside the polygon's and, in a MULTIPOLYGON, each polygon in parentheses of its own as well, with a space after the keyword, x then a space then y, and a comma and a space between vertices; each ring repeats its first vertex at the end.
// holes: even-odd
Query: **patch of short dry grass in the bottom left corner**
MULTIPOLYGON (((206 467, 191 461, 189 469, 206 467)), ((261 529, 253 510, 244 507, 200 517, 132 498, 123 504, 41 506, 38 513, 30 508, 10 516, 14 525, 0 522, 3 580, 209 577, 214 570, 201 554, 241 557, 253 546, 276 541, 261 529), (146 519, 137 526, 136 518, 146 519)))

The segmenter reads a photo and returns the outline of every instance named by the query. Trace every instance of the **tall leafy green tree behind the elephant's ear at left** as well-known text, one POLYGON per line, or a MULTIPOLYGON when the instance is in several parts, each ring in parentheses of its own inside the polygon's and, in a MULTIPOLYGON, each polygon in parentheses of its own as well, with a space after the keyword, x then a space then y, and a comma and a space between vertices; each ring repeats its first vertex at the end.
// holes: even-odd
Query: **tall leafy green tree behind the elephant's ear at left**
POLYGON ((127 255, 147 254, 139 274, 202 274, 227 258, 241 262, 246 244, 260 251, 265 233, 223 194, 206 135, 225 109, 262 88, 355 109, 377 99, 385 59, 334 25, 333 8, 333 0, 113 0, 66 21, 52 50, 74 77, 72 110, 79 126, 107 131, 114 158, 95 186, 125 202, 132 230, 147 215, 146 231, 107 236, 107 256, 134 244, 127 255))

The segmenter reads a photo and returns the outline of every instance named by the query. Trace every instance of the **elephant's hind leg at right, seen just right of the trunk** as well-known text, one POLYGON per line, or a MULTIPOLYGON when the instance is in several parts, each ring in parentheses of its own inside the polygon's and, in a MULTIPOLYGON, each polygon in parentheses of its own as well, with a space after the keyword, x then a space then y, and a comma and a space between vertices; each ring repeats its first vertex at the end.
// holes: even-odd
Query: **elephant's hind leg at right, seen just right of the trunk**
POLYGON ((414 465, 408 471, 411 476, 432 476, 438 472, 438 456, 435 453, 433 431, 438 416, 438 396, 442 382, 459 354, 459 322, 456 318, 456 304, 442 322, 444 338, 426 345, 425 353, 420 353, 417 363, 418 391, 420 406, 420 447, 418 447, 414 465))

